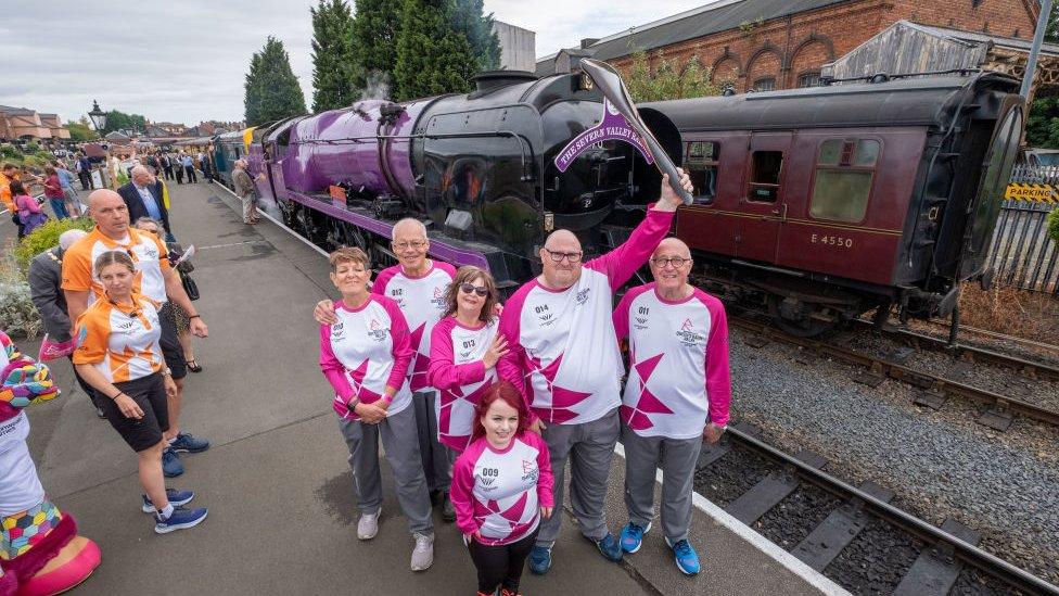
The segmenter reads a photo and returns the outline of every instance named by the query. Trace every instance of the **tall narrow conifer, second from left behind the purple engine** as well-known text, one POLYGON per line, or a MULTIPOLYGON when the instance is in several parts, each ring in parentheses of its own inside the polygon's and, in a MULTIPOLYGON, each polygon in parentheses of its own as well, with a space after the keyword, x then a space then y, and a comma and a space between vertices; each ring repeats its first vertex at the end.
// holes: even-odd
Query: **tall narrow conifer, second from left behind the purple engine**
POLYGON ((353 104, 359 67, 353 54, 353 15, 345 0, 320 0, 312 15, 312 111, 353 104))

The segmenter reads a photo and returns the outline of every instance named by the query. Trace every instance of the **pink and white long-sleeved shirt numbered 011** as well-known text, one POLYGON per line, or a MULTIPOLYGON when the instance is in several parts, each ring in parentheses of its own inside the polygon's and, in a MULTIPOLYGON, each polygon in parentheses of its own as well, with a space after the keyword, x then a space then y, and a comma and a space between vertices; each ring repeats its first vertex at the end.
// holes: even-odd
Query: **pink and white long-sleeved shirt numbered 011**
POLYGON ((669 302, 648 283, 622 297, 614 328, 629 341, 621 415, 634 432, 693 439, 707 419, 728 423, 728 321, 719 300, 696 288, 669 302))

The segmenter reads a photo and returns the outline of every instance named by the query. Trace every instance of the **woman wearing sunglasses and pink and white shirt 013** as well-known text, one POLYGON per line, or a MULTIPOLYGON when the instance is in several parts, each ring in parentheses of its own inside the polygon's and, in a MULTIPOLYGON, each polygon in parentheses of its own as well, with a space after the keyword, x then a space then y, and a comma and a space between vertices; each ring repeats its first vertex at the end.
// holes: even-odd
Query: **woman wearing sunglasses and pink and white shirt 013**
POLYGON ((497 335, 497 299, 488 271, 460 267, 445 293, 445 315, 431 332, 437 441, 456 452, 470 443, 474 408, 497 379, 497 360, 508 353, 507 340, 497 335))

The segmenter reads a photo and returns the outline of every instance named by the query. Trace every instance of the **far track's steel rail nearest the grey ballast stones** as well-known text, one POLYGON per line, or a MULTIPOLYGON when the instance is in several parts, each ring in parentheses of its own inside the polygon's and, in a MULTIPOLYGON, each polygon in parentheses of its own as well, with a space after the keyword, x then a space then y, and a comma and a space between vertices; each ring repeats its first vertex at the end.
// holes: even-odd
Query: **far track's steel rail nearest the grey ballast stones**
POLYGON ((992 404, 1000 409, 1015 411, 1033 420, 1059 426, 1059 411, 1048 409, 1036 404, 1031 404, 1030 402, 1025 402, 1023 400, 999 395, 988 390, 954 381, 952 379, 946 379, 945 377, 941 377, 939 375, 917 370, 911 367, 878 356, 865 354, 850 347, 838 346, 819 340, 790 335, 767 324, 750 321, 733 316, 729 317, 729 321, 731 321, 731 324, 736 327, 756 332, 765 338, 779 340, 784 343, 813 350, 820 354, 834 356, 841 360, 867 367, 879 373, 885 373, 888 377, 896 380, 913 382, 914 384, 919 384, 915 383, 915 381, 919 379, 929 380, 931 389, 942 391, 949 395, 972 400, 978 403, 992 404))

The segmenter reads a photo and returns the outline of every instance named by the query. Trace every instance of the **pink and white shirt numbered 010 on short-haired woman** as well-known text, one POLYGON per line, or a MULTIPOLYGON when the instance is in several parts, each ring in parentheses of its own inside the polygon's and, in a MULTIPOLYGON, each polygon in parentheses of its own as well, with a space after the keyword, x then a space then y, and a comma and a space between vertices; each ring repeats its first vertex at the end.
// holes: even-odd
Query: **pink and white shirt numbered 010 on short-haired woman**
POLYGON ((408 326, 394 301, 370 295, 359 308, 334 303, 339 322, 320 326, 320 368, 334 388, 334 411, 347 420, 360 417, 347 406, 354 396, 370 404, 397 388, 387 408, 392 416, 411 404, 405 373, 412 358, 408 326))

